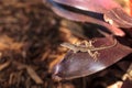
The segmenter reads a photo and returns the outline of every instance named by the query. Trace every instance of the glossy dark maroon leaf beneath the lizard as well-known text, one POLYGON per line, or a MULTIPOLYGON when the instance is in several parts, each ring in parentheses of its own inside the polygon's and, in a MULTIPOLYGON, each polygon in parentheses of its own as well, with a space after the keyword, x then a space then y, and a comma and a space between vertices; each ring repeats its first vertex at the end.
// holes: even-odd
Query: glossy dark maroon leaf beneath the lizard
MULTIPOLYGON (((97 38, 95 46, 106 46, 111 45, 112 43, 113 40, 111 37, 97 38)), ((95 74, 132 53, 132 48, 118 43, 111 48, 98 52, 100 55, 98 59, 95 61, 87 52, 74 53, 73 51, 69 51, 53 68, 53 77, 55 79, 73 79, 95 74)))

